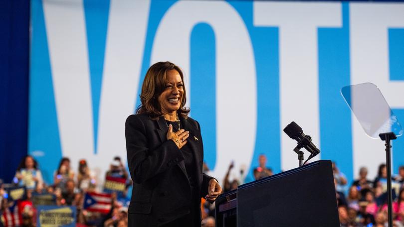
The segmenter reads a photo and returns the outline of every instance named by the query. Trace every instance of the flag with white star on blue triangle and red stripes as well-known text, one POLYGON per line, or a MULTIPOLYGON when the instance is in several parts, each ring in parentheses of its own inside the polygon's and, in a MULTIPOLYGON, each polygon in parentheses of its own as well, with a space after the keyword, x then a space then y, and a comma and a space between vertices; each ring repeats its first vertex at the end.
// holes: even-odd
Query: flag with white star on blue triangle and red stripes
POLYGON ((84 197, 84 210, 108 214, 111 202, 111 194, 87 192, 84 197))

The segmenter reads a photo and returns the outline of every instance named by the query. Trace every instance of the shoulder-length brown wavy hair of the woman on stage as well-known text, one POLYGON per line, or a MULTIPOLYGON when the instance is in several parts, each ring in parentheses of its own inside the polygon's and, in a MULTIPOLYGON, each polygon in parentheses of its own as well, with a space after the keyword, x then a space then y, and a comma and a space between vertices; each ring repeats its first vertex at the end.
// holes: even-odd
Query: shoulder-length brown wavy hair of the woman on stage
MULTIPOLYGON (((176 70, 180 74, 181 80, 184 82, 183 71, 180 67, 171 62, 157 62, 150 66, 143 81, 142 93, 140 94, 140 101, 142 104, 136 109, 136 114, 146 113, 152 119, 157 119, 163 115, 158 98, 166 89, 166 75, 170 70, 176 70)), ((185 104, 187 103, 185 86, 183 87, 183 90, 184 93, 178 113, 186 118, 190 113, 190 109, 185 107, 185 104)))

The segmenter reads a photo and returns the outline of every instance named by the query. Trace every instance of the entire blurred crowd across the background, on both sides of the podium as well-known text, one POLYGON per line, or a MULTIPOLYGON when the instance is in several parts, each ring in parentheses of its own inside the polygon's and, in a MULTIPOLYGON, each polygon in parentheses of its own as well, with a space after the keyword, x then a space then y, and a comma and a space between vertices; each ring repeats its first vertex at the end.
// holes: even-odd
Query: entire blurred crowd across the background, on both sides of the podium
MULTIPOLYGON (((271 176, 271 168, 266 166, 265 155, 258 158, 258 166, 253 170, 255 179, 271 176)), ((244 170, 240 170, 239 177, 230 180, 230 172, 234 168, 231 162, 226 175, 223 177, 223 192, 237 189, 244 178, 244 170)), ((204 164, 204 171, 208 168, 204 164)), ((349 184, 346 176, 333 163, 334 182, 338 204, 339 219, 342 227, 385 227, 387 226, 387 168, 385 164, 379 166, 375 179, 368 178, 366 167, 360 168, 359 176, 349 184)), ((132 185, 128 172, 119 157, 115 157, 110 164, 110 169, 105 177, 125 179, 126 191, 117 194, 110 192, 111 206, 108 213, 98 213, 86 210, 84 198, 86 193, 99 191, 96 176, 86 160, 78 163, 77 171, 70 166, 70 160, 63 157, 57 170, 54 172, 53 184, 46 184, 42 178, 37 162, 32 156, 26 156, 18 166, 11 184, 3 184, 0 181, 0 226, 36 226, 37 210, 33 202, 34 195, 53 195, 55 206, 74 206, 76 208, 77 226, 104 226, 125 227, 128 217, 127 190, 132 185), (5 186, 25 188, 25 196, 15 204, 9 200, 5 186), (11 207, 18 208, 19 220, 10 221, 14 217, 11 207), (7 216, 8 215, 8 216, 7 216), (7 219, 8 217, 8 219, 7 219)), ((392 178, 393 182, 393 219, 396 227, 404 227, 404 166, 400 166, 399 174, 392 178)), ((202 199, 202 227, 214 227, 214 204, 202 199)))

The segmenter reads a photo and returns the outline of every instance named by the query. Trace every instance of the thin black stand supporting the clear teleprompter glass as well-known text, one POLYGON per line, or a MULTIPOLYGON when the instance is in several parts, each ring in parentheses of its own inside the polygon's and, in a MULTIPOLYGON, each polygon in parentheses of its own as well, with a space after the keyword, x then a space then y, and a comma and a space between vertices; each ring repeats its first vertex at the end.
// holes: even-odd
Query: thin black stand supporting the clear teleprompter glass
POLYGON ((387 205, 389 216, 389 227, 393 227, 393 196, 392 196, 392 156, 391 156, 391 140, 397 139, 394 132, 380 133, 380 138, 386 141, 386 168, 387 168, 387 205))

